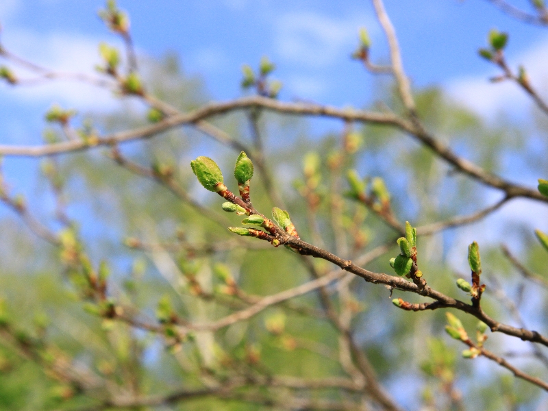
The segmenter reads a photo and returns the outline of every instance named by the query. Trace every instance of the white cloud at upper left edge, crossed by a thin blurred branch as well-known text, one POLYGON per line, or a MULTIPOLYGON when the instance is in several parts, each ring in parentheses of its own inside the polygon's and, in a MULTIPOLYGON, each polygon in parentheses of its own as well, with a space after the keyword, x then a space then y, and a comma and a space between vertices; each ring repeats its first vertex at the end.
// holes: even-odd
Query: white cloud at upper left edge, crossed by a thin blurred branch
MULTIPOLYGON (((110 39, 112 43, 112 38, 110 39)), ((101 39, 80 34, 40 35, 23 29, 3 33, 3 44, 12 53, 60 73, 84 73, 98 77, 95 65, 100 63, 98 45, 101 39)), ((123 51, 120 43, 115 44, 123 51)), ((8 62, 21 79, 34 79, 35 73, 8 62)), ((22 99, 36 103, 60 103, 77 110, 112 110, 118 101, 112 92, 82 82, 55 80, 33 86, 0 87, 2 98, 22 99)))

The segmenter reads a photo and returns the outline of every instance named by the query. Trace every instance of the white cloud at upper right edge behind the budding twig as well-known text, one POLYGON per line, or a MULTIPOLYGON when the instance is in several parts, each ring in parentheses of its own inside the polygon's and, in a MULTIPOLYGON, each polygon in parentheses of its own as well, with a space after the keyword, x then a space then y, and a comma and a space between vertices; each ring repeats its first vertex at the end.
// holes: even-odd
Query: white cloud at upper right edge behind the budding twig
MULTIPOLYGON (((527 69, 530 80, 541 95, 548 97, 548 38, 525 53, 510 58, 509 65, 517 70, 519 65, 527 69)), ((449 94, 475 112, 492 119, 501 111, 523 116, 530 108, 530 97, 513 82, 489 82, 489 77, 500 75, 493 69, 484 75, 453 79, 449 82, 449 94)))

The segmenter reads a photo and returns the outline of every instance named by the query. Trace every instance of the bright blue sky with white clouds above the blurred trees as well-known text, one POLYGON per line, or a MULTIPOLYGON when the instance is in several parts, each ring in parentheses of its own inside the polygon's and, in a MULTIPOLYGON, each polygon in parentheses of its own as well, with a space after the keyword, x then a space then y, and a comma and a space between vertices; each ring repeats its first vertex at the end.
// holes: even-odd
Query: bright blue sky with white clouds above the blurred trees
MULTIPOLYGON (((528 7, 526 1, 515 4, 528 7)), ((201 76, 215 100, 242 95, 242 64, 256 66, 262 55, 269 55, 277 64, 275 77, 284 82, 281 99, 363 107, 373 101, 375 78, 349 58, 359 27, 371 34, 372 60, 388 57, 369 1, 121 0, 119 5, 129 12, 141 55, 175 51, 184 71, 201 76)), ((103 6, 95 0, 2 0, 2 43, 51 69, 93 73, 99 42, 121 44, 97 16, 103 6)), ((415 86, 443 86, 486 119, 496 119, 502 110, 531 121, 529 99, 514 84, 488 82, 498 71, 478 57, 477 49, 486 45, 489 29, 509 32, 510 64, 525 64, 533 84, 547 90, 546 29, 514 21, 485 0, 388 0, 386 8, 415 86)), ((0 144, 40 144, 43 114, 54 102, 80 112, 119 105, 110 92, 82 84, 0 84, 0 144)), ((320 124, 313 129, 332 127, 320 124)), ((28 190, 37 164, 32 159, 8 161, 14 186, 28 190)), ((530 215, 519 210, 536 206, 516 201, 503 212, 530 215)))

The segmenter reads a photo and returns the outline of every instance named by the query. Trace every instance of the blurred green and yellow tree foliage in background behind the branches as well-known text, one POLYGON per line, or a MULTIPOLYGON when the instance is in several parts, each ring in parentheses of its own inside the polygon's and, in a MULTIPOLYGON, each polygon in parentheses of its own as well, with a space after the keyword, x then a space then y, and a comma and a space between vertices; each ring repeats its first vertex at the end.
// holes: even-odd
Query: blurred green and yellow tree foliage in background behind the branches
MULTIPOLYGON (((206 103, 208 92, 201 79, 188 77, 178 62, 177 55, 166 55, 158 61, 145 60, 143 77, 153 95, 188 111, 206 103)), ((392 84, 379 82, 379 103, 401 110, 393 93, 392 84)), ((488 125, 451 101, 440 88, 416 90, 416 103, 429 129, 436 130, 437 136, 460 155, 486 170, 512 179, 520 159, 523 168, 518 175, 527 172, 538 177, 548 175, 547 163, 538 146, 528 144, 532 134, 546 133, 545 117, 539 116, 538 123, 527 126, 506 119, 488 125)), ((77 119, 108 133, 145 125, 147 113, 123 100, 120 110, 112 114, 81 113, 77 119)), ((355 258, 397 236, 373 213, 345 197, 349 189, 345 174, 349 169, 356 169, 362 177, 382 177, 397 218, 416 226, 470 213, 498 199, 496 192, 454 173, 431 151, 401 132, 378 125, 333 123, 331 133, 310 138, 310 121, 260 113, 258 126, 266 147, 266 164, 285 205, 272 202, 260 175, 252 181, 251 199, 264 214, 269 214, 273 206, 286 208, 301 238, 341 256, 355 258), (342 232, 332 229, 334 219, 342 232), (363 247, 353 249, 353 238, 360 238, 363 247)), ((248 112, 219 116, 213 123, 237 140, 252 145, 248 112)), ((60 129, 53 126, 48 129, 47 134, 61 138, 60 129)), ((225 283, 216 271, 229 271, 249 295, 273 294, 309 279, 306 266, 294 253, 283 247, 266 247, 253 238, 234 238, 225 227, 238 225, 238 217, 223 214, 219 197, 197 184, 190 160, 197 155, 208 155, 221 165, 227 186, 237 191, 232 179, 236 151, 192 127, 173 129, 119 149, 125 157, 143 166, 169 167, 177 184, 219 214, 226 224, 223 227, 206 218, 161 184, 123 169, 103 149, 42 160, 53 163, 63 180, 66 214, 77 224, 91 264, 97 267, 105 261, 110 267, 108 292, 115 301, 134 306, 153 322, 159 301, 171 305, 181 318, 203 322, 221 318, 231 310, 214 300, 192 295, 189 278, 195 278, 206 292, 215 292, 234 303, 237 303, 235 297, 223 295, 225 283), (130 247, 135 240, 160 246, 130 247), (226 245, 227 249, 210 253, 208 245, 226 245)), ((253 159, 253 153, 248 154, 253 159)), ((9 185, 10 175, 4 178, 9 185)), ((55 217, 55 199, 47 179, 36 175, 35 187, 29 193, 30 210, 51 229, 62 229, 55 217)), ((480 243, 488 284, 484 310, 500 321, 516 323, 504 299, 495 293, 499 284, 519 305, 527 324, 543 332, 547 329, 543 315, 545 290, 523 282, 503 258, 500 245, 510 238, 511 245, 519 245, 516 252, 523 263, 544 275, 547 253, 519 222, 506 219, 499 226, 499 221, 489 217, 485 223, 470 228, 472 233, 493 232, 493 236, 487 237, 478 234, 486 238, 486 242, 480 243)), ((16 216, 5 217, 0 225, 3 233, 0 318, 14 325, 21 338, 46 345, 49 348, 45 351, 49 350, 50 355, 88 367, 122 392, 158 395, 182 387, 199 388, 208 377, 245 370, 297 377, 345 375, 338 359, 338 334, 332 325, 284 305, 268 308, 249 321, 218 332, 197 333, 182 343, 169 336, 101 319, 90 313, 89 307, 86 310, 79 285, 60 261, 58 248, 36 238, 16 216)), ((466 297, 455 286, 455 280, 468 276, 459 272, 466 270, 466 245, 458 235, 464 229, 469 227, 421 237, 418 246, 421 270, 428 284, 460 299, 466 297)), ((398 253, 396 243, 393 244, 393 249, 366 268, 393 273, 388 265, 389 258, 398 253)), ((312 263, 320 271, 332 268, 323 261, 312 263)), ((384 286, 366 284, 358 278, 351 282, 351 292, 356 303, 352 323, 356 340, 373 363, 379 379, 404 407, 453 409, 450 401, 453 388, 462 393, 466 410, 536 409, 541 401, 546 401, 539 388, 514 379, 496 364, 482 358, 464 360, 460 356, 464 347, 445 335, 442 310, 417 313, 399 310, 390 303, 390 292, 384 286)), ((401 292, 395 292, 394 297, 423 301, 419 296, 401 292)), ((296 301, 321 310, 314 292, 296 301)), ((467 329, 475 328, 474 319, 456 314, 467 329)), ((14 349, 1 335, 0 343, 0 410, 73 410, 95 403, 77 387, 52 378, 44 367, 14 349)), ((490 334, 486 344, 492 351, 515 355, 512 360, 522 369, 546 377, 547 371, 532 355, 530 345, 498 334, 490 334)), ((351 397, 337 390, 323 395, 332 399, 351 397)), ((206 398, 134 409, 266 408, 271 407, 206 398)))

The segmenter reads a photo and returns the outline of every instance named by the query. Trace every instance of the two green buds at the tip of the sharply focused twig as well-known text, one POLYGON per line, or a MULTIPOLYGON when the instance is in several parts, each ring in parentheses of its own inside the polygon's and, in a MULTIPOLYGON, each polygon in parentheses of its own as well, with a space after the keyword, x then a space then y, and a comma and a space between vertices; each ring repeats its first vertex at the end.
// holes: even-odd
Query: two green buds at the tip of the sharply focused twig
MULTIPOLYGON (((225 184, 223 184, 223 173, 216 162, 209 157, 201 156, 196 160, 190 162, 190 167, 195 173, 198 181, 206 188, 213 192, 223 192, 226 190, 225 184)), ((238 155, 236 165, 234 166, 234 178, 238 182, 238 188, 240 195, 244 201, 249 201, 249 183, 253 177, 253 162, 247 157, 247 154, 242 151, 238 155)), ((226 210, 231 211, 231 210, 226 210)), ((234 210, 236 211, 236 210, 234 210)))

